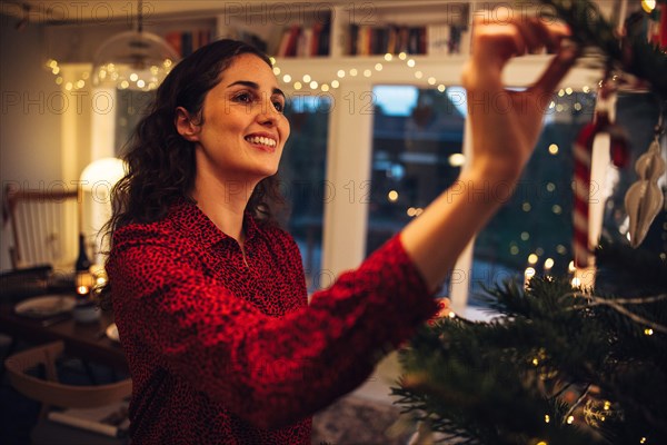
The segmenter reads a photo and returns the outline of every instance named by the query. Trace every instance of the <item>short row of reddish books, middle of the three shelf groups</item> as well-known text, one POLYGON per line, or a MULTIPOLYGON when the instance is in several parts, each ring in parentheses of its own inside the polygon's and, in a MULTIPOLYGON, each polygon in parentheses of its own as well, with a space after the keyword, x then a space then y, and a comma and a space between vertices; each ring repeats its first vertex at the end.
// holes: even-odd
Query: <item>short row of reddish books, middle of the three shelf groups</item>
POLYGON ((330 26, 316 22, 312 27, 292 24, 280 38, 277 57, 315 57, 328 56, 330 47, 330 26))

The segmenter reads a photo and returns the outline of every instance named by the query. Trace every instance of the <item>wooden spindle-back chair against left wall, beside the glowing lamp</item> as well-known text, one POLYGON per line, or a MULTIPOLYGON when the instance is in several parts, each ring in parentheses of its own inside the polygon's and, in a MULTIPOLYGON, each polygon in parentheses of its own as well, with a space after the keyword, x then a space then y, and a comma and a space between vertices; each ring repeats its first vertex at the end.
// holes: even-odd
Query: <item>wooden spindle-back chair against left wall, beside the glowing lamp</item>
MULTIPOLYGON (((78 251, 77 188, 29 190, 16 184, 4 189, 3 222, 12 227, 14 269, 39 265, 71 266, 78 251)), ((69 267, 68 267, 69 268, 69 267)))

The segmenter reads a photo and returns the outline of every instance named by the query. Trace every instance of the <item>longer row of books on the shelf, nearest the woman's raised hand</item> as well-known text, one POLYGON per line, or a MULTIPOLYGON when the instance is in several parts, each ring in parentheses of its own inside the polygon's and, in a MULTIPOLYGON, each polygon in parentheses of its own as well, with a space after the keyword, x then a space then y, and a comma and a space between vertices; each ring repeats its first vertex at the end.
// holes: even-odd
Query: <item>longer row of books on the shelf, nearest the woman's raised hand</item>
POLYGON ((454 24, 420 27, 351 24, 347 53, 458 55, 469 52, 468 29, 454 24))

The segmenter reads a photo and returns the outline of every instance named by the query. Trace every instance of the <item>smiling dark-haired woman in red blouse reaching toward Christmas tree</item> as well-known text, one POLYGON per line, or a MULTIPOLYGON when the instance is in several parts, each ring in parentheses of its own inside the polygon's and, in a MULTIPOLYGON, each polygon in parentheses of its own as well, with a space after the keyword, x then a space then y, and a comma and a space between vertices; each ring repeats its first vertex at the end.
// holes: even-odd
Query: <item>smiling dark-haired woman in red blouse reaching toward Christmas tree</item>
POLYGON ((126 159, 109 225, 109 285, 133 379, 137 444, 309 444, 310 415, 354 389, 387 346, 437 312, 432 291, 530 156, 544 101, 575 55, 508 93, 514 55, 558 44, 537 21, 475 24, 464 73, 471 167, 419 217, 306 304, 295 241, 271 224, 289 136, 266 57, 218 41, 158 90, 126 159), (516 107, 475 109, 494 95, 516 107))

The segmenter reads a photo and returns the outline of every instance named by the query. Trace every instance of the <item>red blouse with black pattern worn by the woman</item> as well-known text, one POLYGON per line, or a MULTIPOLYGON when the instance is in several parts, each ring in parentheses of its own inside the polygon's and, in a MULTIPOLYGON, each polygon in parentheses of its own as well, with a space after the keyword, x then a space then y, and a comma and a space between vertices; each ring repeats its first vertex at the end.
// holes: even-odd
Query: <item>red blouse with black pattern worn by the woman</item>
POLYGON ((293 239, 237 241, 179 202, 118 229, 108 263, 136 444, 310 444, 310 416, 437 310, 398 237, 306 300, 293 239))

